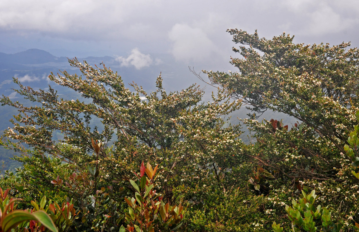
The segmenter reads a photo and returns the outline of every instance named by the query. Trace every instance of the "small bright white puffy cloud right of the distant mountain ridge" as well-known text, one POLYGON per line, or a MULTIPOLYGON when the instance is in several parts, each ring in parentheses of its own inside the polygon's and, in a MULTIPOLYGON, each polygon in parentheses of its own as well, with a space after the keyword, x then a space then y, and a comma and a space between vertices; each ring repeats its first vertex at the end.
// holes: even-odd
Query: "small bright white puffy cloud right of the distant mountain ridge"
POLYGON ((121 66, 129 67, 133 65, 136 69, 149 67, 153 62, 149 54, 141 53, 138 48, 132 49, 131 54, 127 58, 119 56, 116 58, 116 61, 120 62, 121 66))

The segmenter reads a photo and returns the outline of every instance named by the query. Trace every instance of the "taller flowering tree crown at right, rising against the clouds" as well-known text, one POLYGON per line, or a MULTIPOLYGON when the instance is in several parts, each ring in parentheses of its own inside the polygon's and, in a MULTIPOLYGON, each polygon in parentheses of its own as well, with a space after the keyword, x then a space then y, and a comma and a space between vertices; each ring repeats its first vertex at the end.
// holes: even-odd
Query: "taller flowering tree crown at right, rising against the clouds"
POLYGON ((213 84, 251 105, 285 113, 343 151, 346 134, 358 110, 358 48, 350 43, 294 44, 283 33, 272 39, 228 29, 233 42, 241 44, 231 58, 239 72, 206 72, 213 84))

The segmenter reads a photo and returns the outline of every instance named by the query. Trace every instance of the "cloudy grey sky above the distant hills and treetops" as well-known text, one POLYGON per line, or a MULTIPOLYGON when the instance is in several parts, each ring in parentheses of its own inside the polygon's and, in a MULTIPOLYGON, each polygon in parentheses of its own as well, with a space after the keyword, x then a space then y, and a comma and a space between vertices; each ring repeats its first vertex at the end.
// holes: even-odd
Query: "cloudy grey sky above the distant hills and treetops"
POLYGON ((188 66, 228 71, 236 56, 228 28, 358 47, 358 24, 356 0, 1 0, 0 52, 38 48, 55 56, 112 56, 120 67, 158 73, 188 73, 188 66))

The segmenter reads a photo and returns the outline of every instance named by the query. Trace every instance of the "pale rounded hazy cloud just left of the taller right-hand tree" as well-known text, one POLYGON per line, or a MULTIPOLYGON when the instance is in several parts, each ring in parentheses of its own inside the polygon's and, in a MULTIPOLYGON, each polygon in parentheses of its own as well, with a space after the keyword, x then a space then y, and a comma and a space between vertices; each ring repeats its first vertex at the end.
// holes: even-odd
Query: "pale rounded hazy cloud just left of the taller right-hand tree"
POLYGON ((168 33, 173 42, 172 54, 176 60, 194 61, 209 58, 219 49, 200 28, 176 24, 168 33))

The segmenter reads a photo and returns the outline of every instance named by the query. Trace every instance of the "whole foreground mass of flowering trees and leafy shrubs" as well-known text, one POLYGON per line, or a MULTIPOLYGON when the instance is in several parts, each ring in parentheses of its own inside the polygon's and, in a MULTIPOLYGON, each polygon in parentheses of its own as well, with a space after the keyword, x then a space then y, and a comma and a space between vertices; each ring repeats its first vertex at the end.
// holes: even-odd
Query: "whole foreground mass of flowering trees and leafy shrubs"
POLYGON ((23 164, 1 187, 59 231, 359 229, 358 49, 229 32, 239 72, 204 71, 219 86, 206 103, 199 86, 167 93, 159 76, 156 91, 131 91, 111 69, 76 59, 81 76, 49 78, 80 99, 14 79, 32 104, 0 99, 19 111, 0 143, 23 164), (255 114, 230 124, 243 103, 255 114), (292 126, 258 121, 265 110, 292 126))

